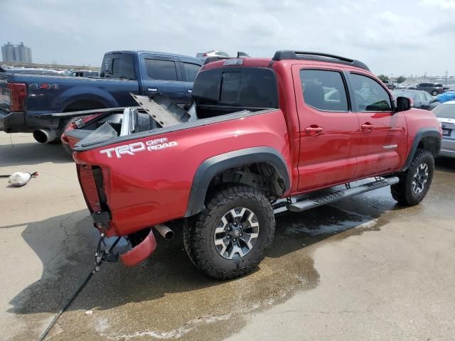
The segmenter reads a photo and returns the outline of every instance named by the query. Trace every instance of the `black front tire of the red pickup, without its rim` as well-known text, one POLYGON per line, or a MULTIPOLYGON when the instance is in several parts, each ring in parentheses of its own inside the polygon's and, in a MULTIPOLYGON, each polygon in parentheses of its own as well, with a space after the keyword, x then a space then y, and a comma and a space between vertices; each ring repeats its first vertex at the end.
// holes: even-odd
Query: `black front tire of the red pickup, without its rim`
POLYGON ((430 185, 432 185, 434 174, 434 157, 433 154, 424 149, 417 149, 412 163, 407 171, 400 174, 400 182, 390 186, 390 192, 392 197, 397 200, 400 205, 404 206, 414 206, 423 200, 425 195, 429 190, 430 185), (424 184, 424 188, 420 193, 414 193, 412 190, 412 181, 414 180, 414 175, 417 172, 417 168, 423 163, 428 166, 428 180, 424 184))

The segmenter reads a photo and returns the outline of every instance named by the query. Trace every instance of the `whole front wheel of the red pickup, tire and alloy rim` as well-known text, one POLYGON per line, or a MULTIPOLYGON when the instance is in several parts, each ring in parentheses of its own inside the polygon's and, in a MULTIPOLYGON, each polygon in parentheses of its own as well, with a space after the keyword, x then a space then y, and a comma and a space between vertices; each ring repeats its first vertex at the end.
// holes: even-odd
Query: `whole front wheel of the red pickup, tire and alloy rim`
POLYGON ((429 151, 417 149, 411 166, 400 175, 400 182, 392 185, 392 197, 400 205, 417 205, 423 200, 432 184, 434 157, 429 151))

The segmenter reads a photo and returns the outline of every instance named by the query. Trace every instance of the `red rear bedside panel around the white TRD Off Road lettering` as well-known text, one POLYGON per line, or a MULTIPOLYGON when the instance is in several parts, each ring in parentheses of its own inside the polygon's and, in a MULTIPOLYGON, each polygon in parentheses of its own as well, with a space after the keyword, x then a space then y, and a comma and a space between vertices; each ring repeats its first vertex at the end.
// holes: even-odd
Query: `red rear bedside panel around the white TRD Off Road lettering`
MULTIPOLYGON (((202 121, 202 120, 201 120, 202 121)), ((291 170, 287 126, 281 110, 220 121, 191 129, 112 144, 73 153, 80 164, 102 168, 107 204, 112 213, 111 234, 125 235, 145 227, 183 217, 193 178, 206 159, 243 148, 270 146, 282 154, 291 170), (134 155, 103 150, 155 139, 176 142, 161 150, 134 155)))

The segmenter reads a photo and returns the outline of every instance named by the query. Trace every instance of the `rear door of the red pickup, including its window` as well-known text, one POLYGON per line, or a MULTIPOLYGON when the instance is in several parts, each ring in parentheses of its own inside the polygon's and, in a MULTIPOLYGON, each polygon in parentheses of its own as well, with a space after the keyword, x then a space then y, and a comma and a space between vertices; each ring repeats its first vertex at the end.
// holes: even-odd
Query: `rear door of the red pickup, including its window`
POLYGON ((341 72, 301 65, 292 72, 300 126, 299 191, 351 180, 360 133, 341 72))

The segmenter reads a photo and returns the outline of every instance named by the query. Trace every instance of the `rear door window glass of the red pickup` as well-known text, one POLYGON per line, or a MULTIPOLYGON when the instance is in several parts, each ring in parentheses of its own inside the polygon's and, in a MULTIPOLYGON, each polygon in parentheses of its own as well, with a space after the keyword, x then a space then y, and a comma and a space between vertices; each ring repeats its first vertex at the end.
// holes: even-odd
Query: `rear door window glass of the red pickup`
POLYGON ((304 102, 326 112, 348 112, 348 97, 343 77, 338 71, 301 70, 304 102))

